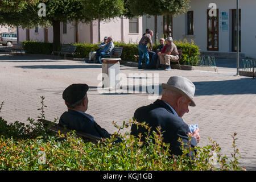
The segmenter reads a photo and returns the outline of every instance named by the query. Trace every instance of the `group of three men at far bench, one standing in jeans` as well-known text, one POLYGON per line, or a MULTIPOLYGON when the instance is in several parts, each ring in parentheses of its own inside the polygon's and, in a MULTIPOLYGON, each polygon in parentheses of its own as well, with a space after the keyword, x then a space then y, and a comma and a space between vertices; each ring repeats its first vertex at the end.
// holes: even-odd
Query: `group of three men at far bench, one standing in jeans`
POLYGON ((139 58, 138 69, 142 68, 142 60, 145 59, 146 69, 159 68, 164 70, 171 70, 170 61, 179 60, 179 52, 177 51, 176 45, 173 43, 171 37, 166 39, 166 45, 164 45, 165 40, 160 39, 160 45, 158 46, 156 52, 152 51, 152 36, 154 35, 152 30, 146 29, 146 33, 143 34, 139 45, 139 58), (147 45, 150 44, 150 47, 147 45), (151 59, 151 61, 150 61, 151 59))

